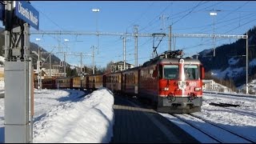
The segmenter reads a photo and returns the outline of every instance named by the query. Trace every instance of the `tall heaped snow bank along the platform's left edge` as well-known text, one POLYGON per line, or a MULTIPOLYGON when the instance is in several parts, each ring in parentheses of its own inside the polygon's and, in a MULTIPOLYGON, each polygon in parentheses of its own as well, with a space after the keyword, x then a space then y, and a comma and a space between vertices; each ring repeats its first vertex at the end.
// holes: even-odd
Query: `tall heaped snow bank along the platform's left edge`
POLYGON ((42 120, 34 122, 33 142, 110 142, 114 126, 114 97, 110 90, 101 88, 85 98, 73 99, 51 107, 42 120))

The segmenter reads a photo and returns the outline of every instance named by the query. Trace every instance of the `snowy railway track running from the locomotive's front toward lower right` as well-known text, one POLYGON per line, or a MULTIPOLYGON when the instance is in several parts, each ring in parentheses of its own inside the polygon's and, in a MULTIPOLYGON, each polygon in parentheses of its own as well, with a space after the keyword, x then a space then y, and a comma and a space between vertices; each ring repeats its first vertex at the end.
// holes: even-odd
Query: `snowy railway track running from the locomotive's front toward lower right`
MULTIPOLYGON (((234 133, 231 130, 224 128, 218 124, 207 121, 204 118, 200 118, 194 114, 170 114, 171 116, 178 118, 187 125, 193 127, 195 130, 204 134, 204 137, 211 138, 213 142, 227 143, 255 143, 254 140, 246 138, 241 134, 234 133)), ((203 137, 203 135, 201 135, 203 137)))

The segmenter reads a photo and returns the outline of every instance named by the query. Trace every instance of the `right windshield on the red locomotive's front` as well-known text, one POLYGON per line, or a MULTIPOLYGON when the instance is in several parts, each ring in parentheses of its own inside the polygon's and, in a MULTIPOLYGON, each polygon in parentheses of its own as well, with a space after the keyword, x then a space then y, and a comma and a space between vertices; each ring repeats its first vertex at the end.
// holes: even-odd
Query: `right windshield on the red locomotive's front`
POLYGON ((185 65, 184 66, 185 71, 185 78, 194 80, 198 79, 199 73, 198 73, 198 66, 196 65, 185 65))

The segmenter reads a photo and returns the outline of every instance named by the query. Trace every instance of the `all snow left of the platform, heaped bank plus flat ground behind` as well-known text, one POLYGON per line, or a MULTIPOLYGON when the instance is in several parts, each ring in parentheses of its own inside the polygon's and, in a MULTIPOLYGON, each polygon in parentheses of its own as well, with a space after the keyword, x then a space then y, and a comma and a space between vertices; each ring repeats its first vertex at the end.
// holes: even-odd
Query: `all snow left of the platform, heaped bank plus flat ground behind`
MULTIPOLYGON (((34 90, 35 143, 106 143, 113 136, 114 97, 101 88, 86 97, 79 90, 34 90)), ((0 142, 4 142, 4 98, 0 99, 0 142)))

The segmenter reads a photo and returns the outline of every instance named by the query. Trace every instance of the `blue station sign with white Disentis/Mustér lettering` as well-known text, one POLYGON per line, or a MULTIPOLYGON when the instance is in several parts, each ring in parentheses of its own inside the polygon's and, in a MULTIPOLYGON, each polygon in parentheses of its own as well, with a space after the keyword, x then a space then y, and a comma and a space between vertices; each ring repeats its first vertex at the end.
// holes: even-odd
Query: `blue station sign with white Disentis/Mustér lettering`
POLYGON ((23 21, 30 24, 30 26, 39 30, 39 13, 35 10, 29 2, 26 1, 16 1, 15 4, 15 15, 21 18, 23 21))

